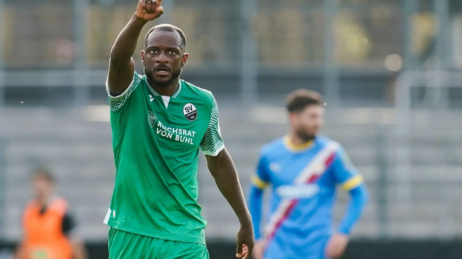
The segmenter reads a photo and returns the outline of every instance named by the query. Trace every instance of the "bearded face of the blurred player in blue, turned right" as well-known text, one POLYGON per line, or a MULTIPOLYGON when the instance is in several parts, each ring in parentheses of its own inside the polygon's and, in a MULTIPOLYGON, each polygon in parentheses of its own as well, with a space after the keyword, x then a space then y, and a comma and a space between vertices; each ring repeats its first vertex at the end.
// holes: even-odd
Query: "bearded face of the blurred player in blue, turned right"
POLYGON ((310 141, 324 124, 324 108, 319 105, 306 106, 301 112, 291 113, 290 122, 299 138, 310 141))

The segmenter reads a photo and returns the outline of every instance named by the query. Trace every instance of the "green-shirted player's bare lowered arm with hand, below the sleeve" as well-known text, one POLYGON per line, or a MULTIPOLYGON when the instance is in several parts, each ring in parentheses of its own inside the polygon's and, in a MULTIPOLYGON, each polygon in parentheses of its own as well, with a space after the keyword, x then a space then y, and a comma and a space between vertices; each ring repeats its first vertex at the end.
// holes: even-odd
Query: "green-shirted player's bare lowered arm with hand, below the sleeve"
POLYGON ((245 204, 242 188, 231 156, 223 149, 216 156, 206 155, 207 166, 225 199, 236 213, 241 228, 237 232, 237 257, 248 259, 255 244, 252 218, 245 204))

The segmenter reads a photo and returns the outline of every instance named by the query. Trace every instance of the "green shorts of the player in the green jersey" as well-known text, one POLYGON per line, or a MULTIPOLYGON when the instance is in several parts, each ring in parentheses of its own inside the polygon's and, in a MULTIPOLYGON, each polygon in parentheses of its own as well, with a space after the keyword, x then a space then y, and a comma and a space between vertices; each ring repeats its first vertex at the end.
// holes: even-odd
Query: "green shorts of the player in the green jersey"
POLYGON ((109 259, 208 259, 199 243, 163 240, 109 229, 109 259))

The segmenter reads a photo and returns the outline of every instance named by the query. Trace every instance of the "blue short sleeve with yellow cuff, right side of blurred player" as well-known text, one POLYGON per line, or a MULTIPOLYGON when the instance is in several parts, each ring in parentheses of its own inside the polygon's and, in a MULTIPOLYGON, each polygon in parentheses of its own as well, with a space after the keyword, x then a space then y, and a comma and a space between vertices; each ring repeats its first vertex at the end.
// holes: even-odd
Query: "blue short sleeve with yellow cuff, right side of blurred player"
POLYGON ((336 182, 340 183, 341 187, 346 191, 350 191, 364 182, 363 177, 356 170, 343 148, 340 148, 337 152, 332 169, 334 170, 336 182))

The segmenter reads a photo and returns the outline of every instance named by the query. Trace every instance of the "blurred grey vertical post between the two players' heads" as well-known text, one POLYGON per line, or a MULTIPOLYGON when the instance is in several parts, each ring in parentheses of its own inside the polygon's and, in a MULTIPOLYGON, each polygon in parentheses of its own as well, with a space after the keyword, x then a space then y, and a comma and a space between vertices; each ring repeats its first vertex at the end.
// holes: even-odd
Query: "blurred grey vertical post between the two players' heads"
POLYGON ((250 107, 258 101, 258 64, 252 20, 257 13, 256 0, 241 0, 241 100, 250 107))

